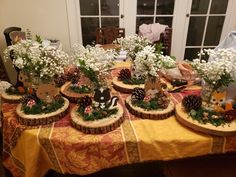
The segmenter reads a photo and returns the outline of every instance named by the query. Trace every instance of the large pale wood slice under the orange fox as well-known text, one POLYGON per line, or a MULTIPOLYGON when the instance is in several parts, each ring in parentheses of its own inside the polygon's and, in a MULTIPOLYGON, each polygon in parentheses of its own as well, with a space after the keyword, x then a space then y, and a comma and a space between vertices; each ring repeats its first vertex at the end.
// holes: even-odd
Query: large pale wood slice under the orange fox
POLYGON ((176 105, 175 113, 176 113, 176 118, 180 123, 195 131, 217 136, 236 135, 236 121, 232 121, 228 123, 228 125, 226 124, 224 126, 218 126, 218 127, 210 123, 201 124, 190 117, 190 115, 184 110, 182 103, 176 105))

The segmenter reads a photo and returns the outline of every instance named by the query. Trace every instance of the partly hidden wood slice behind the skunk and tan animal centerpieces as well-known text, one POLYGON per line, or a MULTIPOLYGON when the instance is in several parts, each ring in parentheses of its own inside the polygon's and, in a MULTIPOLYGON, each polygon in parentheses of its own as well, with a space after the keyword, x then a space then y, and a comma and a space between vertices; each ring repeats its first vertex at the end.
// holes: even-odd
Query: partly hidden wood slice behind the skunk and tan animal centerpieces
POLYGON ((70 86, 71 86, 71 82, 66 82, 62 87, 61 87, 61 93, 63 96, 65 96, 66 98, 68 98, 71 102, 76 103, 78 101, 78 99, 82 96, 91 96, 90 93, 76 93, 76 92, 72 92, 70 91, 70 86))

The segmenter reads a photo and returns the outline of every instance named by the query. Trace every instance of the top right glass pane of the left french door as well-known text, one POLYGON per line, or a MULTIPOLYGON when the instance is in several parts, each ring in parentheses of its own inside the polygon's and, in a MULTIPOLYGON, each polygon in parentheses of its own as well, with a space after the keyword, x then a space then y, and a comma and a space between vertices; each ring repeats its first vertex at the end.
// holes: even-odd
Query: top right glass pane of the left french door
POLYGON ((119 0, 101 0, 102 15, 119 15, 119 0))

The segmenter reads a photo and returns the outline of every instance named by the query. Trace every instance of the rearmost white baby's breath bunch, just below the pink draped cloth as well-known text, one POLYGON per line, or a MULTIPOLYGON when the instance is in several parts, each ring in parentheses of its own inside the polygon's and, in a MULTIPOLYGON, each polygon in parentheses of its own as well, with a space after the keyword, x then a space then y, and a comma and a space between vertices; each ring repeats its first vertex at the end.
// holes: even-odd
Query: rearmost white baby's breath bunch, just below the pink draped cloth
POLYGON ((119 44, 121 48, 125 50, 132 59, 134 59, 136 54, 140 52, 144 47, 151 44, 151 42, 146 37, 141 37, 137 34, 127 36, 125 38, 118 38, 113 43, 119 44))

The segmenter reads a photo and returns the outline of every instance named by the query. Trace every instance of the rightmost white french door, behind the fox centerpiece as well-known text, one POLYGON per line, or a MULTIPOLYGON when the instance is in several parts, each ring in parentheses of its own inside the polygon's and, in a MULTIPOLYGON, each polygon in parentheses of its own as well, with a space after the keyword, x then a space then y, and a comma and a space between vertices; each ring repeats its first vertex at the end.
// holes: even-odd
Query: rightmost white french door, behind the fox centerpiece
POLYGON ((235 30, 235 0, 176 0, 172 54, 192 60, 235 30), (177 2, 178 1, 178 2, 177 2))

